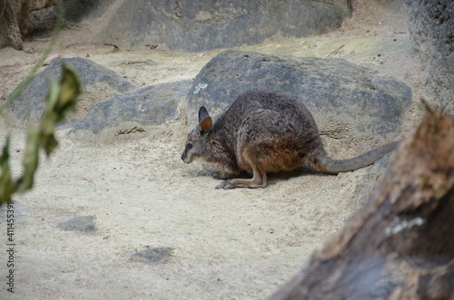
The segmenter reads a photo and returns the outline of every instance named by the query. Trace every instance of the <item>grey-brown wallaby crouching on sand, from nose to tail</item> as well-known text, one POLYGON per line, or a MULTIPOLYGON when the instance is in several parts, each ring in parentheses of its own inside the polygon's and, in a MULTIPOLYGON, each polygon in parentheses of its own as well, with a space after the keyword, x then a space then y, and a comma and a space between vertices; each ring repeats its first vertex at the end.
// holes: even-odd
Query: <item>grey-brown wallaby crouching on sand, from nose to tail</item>
POLYGON ((277 92, 253 91, 240 95, 214 124, 202 106, 199 124, 188 135, 182 160, 217 163, 219 179, 223 180, 242 170, 253 175, 252 179, 222 181, 216 189, 265 188, 267 171, 296 169, 304 159, 328 173, 360 169, 394 150, 399 142, 349 160, 332 160, 311 112, 301 102, 277 92))

